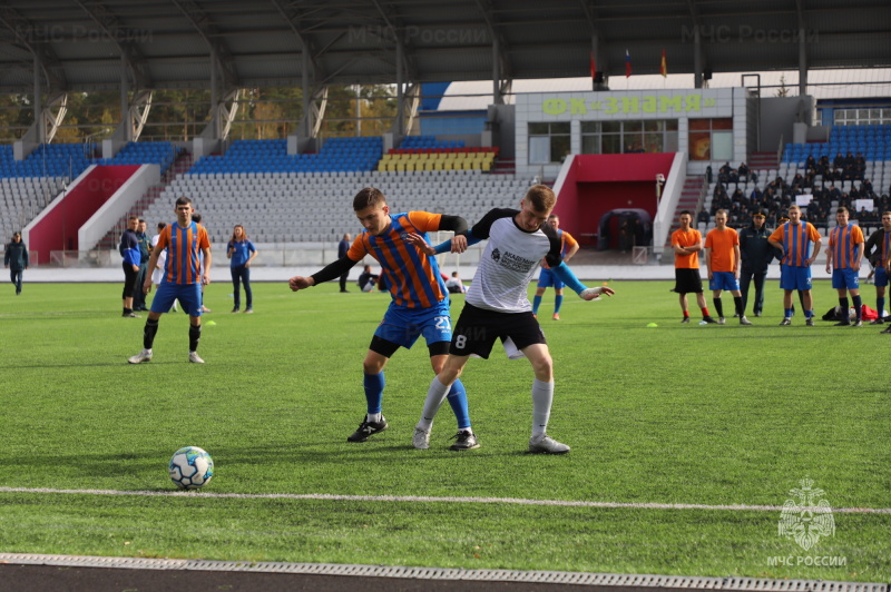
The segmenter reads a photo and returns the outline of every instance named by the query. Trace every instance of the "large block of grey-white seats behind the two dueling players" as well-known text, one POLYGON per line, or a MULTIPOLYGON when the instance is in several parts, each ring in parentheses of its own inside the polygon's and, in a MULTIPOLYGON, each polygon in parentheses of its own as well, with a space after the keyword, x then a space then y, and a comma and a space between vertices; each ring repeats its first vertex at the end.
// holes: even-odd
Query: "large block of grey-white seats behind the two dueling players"
POLYGON ((472 224, 493 207, 517 207, 529 180, 469 170, 203 172, 174 180, 145 217, 167 220, 176 198, 186 196, 203 215, 213 243, 228 240, 236 224, 257 243, 335 243, 361 229, 351 199, 366 186, 381 189, 393 211, 453 213, 472 224))

